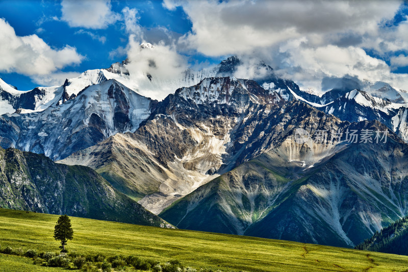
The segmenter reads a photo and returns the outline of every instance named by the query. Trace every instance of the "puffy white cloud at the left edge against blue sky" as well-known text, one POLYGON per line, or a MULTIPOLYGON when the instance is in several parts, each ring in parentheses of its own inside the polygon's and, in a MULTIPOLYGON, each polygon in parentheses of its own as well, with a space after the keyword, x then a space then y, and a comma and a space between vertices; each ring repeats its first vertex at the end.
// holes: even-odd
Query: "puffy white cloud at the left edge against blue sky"
POLYGON ((17 36, 13 27, 1 18, 0 29, 0 71, 25 76, 46 75, 84 59, 69 45, 57 50, 37 35, 17 36))

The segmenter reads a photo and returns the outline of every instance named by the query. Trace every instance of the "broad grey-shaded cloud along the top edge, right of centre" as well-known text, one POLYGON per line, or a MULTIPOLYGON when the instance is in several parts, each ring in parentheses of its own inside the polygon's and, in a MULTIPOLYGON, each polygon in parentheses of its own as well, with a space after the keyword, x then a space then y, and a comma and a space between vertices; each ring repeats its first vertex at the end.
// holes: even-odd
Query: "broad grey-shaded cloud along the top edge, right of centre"
POLYGON ((378 22, 392 18, 399 2, 364 1, 230 1, 172 2, 192 21, 192 32, 180 41, 208 56, 242 54, 293 38, 325 43, 325 35, 352 31, 375 33, 378 22))

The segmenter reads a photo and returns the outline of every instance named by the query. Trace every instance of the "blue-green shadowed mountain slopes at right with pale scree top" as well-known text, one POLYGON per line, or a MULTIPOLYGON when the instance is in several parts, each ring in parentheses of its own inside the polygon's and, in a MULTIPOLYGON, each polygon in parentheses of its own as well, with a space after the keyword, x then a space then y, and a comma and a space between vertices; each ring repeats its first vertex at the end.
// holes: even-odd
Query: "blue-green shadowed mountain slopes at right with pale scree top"
MULTIPOLYGON (((302 122, 297 126, 308 129, 302 122)), ((338 127, 386 129, 376 122, 338 127)), ((160 216, 183 229, 353 246, 407 214, 408 145, 396 135, 386 143, 373 137, 374 143, 334 145, 299 144, 288 134, 160 216), (310 161, 324 150, 321 160, 310 161)))

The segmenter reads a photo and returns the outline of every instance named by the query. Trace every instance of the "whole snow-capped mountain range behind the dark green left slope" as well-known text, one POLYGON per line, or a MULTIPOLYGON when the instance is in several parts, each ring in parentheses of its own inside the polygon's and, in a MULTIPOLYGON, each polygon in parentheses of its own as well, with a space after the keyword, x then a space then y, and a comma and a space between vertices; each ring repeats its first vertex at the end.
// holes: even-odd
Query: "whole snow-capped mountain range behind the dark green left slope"
POLYGON ((237 78, 238 57, 170 81, 128 64, 27 92, 0 81, 0 145, 91 167, 178 228, 352 247, 408 214, 404 91, 339 79, 318 95, 262 61, 237 78))

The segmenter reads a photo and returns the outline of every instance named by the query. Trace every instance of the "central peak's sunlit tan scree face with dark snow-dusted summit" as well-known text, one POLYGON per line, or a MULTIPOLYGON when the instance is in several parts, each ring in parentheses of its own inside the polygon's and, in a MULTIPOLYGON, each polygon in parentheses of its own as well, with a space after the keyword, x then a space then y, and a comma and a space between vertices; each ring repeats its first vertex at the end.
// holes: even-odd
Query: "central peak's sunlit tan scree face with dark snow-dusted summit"
POLYGON ((261 105, 279 101, 253 81, 206 79, 169 95, 135 133, 116 134, 62 162, 95 168, 123 192, 145 196, 140 203, 159 213, 221 167, 233 167, 236 154, 225 157, 231 131, 261 105))

